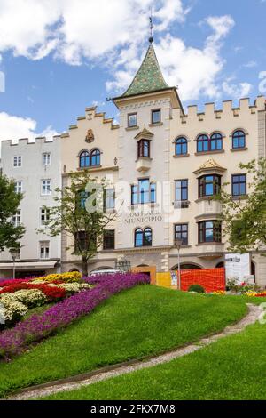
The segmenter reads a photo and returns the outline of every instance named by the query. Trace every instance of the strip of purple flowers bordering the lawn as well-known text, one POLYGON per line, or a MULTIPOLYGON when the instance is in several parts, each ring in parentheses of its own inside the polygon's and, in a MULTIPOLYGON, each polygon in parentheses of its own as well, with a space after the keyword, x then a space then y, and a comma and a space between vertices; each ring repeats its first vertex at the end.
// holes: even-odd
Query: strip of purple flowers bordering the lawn
POLYGON ((97 285, 90 291, 76 293, 43 314, 33 315, 17 326, 0 334, 0 358, 11 358, 27 349, 32 342, 38 342, 62 327, 68 326, 77 318, 89 314, 99 303, 115 293, 136 285, 150 283, 150 278, 137 274, 117 274, 98 277, 97 281, 87 277, 88 284, 97 285))

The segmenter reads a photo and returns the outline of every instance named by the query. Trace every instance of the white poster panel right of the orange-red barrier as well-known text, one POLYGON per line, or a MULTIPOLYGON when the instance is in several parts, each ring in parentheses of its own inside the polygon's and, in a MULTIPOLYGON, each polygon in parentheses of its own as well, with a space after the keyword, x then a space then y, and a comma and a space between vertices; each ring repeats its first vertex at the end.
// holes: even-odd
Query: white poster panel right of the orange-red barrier
POLYGON ((237 279, 240 285, 250 277, 250 254, 225 254, 226 280, 237 279))

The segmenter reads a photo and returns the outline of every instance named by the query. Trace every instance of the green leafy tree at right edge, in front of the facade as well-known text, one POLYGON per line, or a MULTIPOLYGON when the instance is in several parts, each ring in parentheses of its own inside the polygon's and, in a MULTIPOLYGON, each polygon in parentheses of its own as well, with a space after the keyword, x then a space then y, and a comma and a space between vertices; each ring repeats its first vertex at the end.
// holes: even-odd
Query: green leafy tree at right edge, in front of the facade
POLYGON ((245 199, 232 199, 225 185, 217 197, 222 204, 223 232, 229 237, 229 250, 246 253, 266 245, 266 158, 259 158, 239 168, 252 174, 245 199))

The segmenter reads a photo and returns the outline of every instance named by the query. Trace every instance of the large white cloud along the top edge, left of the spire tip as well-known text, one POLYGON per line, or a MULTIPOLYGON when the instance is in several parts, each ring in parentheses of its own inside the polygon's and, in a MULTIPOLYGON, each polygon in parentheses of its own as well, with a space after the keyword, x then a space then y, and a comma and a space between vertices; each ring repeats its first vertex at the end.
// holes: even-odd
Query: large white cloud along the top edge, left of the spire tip
POLYGON ((151 6, 158 32, 188 12, 182 0, 0 0, 0 52, 34 60, 54 52, 70 64, 102 58, 143 41, 151 6))

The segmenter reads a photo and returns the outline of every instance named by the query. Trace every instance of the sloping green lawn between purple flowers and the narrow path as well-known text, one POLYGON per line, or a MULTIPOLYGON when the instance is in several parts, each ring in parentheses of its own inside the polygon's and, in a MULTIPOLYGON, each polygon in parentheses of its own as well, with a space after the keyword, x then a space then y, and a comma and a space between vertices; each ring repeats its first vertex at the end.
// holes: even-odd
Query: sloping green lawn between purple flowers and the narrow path
POLYGON ((137 286, 11 363, 1 363, 0 398, 12 390, 197 341, 245 314, 241 298, 137 286))

